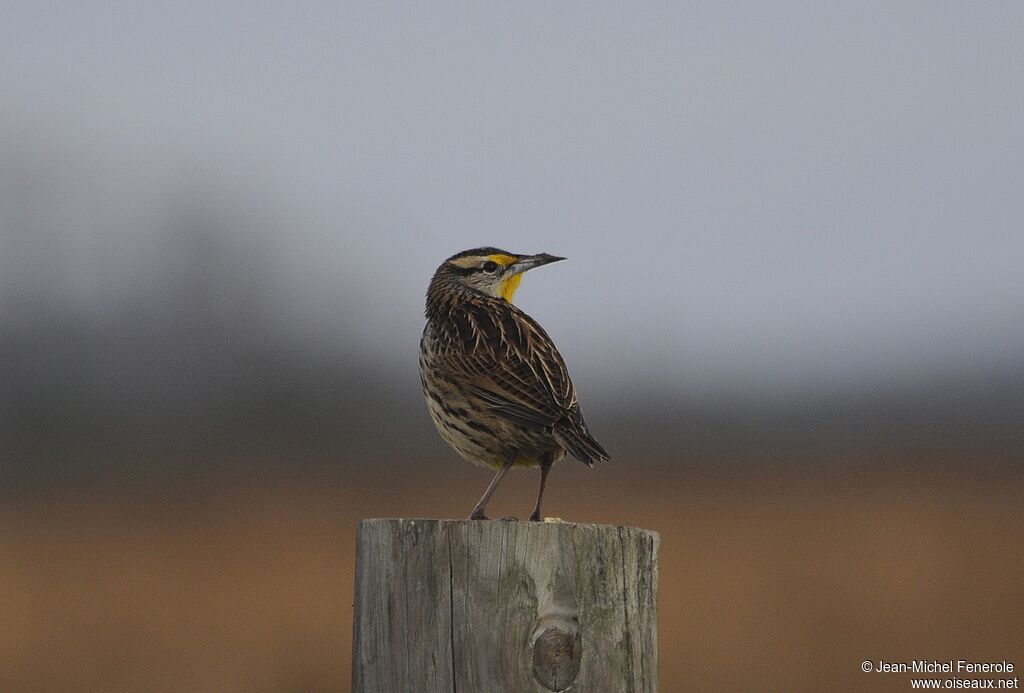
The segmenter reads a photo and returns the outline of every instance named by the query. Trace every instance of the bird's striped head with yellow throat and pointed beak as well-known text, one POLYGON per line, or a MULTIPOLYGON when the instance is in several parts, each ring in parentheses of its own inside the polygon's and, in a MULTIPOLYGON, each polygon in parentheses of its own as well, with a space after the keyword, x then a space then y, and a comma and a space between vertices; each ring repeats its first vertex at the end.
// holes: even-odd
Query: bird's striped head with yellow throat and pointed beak
POLYGON ((437 275, 511 303, 523 272, 564 259, 547 253, 514 255, 498 248, 475 248, 450 257, 437 269, 437 275))

